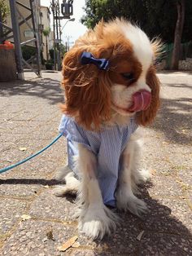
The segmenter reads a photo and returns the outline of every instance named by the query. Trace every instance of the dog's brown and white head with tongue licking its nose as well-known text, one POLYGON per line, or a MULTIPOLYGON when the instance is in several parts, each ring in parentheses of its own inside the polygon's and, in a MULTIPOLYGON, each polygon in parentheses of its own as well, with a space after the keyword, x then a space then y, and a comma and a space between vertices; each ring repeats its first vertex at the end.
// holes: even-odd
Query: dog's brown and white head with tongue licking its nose
POLYGON ((63 60, 63 113, 75 117, 86 129, 98 129, 111 114, 136 115, 146 126, 159 108, 159 80, 155 55, 159 42, 125 20, 100 22, 79 38, 63 60), (83 53, 92 55, 88 62, 83 53), (98 60, 99 59, 99 60, 98 60), (100 59, 107 68, 98 66, 100 59))

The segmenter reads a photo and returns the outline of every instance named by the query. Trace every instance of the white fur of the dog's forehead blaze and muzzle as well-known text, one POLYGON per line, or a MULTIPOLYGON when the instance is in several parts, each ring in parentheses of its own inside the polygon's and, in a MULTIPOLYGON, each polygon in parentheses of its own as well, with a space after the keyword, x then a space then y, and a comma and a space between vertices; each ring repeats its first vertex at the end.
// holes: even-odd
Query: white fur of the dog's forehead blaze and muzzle
POLYGON ((142 29, 129 23, 120 23, 120 29, 123 31, 125 38, 128 38, 132 43, 133 54, 142 64, 142 73, 134 86, 114 84, 111 87, 112 108, 121 115, 129 116, 130 113, 122 108, 128 109, 133 104, 133 94, 139 90, 151 92, 151 88, 146 85, 146 73, 152 64, 154 54, 151 42, 142 29))

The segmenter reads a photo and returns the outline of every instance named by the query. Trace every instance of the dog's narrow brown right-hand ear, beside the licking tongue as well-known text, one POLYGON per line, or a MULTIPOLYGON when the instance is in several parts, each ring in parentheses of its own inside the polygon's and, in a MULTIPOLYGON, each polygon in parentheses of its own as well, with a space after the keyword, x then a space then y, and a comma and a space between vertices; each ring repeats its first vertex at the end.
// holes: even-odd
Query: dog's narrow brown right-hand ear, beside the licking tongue
POLYGON ((151 104, 150 107, 144 111, 136 114, 136 120, 138 125, 147 126, 154 121, 156 113, 159 109, 159 78, 155 74, 155 68, 151 67, 146 75, 146 84, 151 88, 151 104))

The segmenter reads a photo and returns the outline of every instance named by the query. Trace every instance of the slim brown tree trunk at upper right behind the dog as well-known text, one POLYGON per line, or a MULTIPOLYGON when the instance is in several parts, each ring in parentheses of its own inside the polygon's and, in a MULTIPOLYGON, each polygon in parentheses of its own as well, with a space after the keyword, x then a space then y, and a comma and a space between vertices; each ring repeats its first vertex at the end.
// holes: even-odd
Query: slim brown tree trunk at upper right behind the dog
POLYGON ((185 20, 185 0, 177 0, 177 23, 175 28, 175 37, 172 51, 171 69, 178 70, 181 37, 183 32, 183 24, 185 20))

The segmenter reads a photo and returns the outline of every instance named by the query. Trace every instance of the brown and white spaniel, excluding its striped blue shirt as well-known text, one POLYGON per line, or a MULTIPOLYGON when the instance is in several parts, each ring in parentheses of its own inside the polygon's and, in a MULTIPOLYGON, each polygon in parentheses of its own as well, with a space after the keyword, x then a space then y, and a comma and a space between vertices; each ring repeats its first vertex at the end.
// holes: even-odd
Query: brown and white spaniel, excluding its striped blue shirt
MULTIPOLYGON (((159 108, 159 80, 154 67, 159 49, 158 41, 151 42, 142 29, 126 20, 101 21, 79 38, 64 57, 63 113, 82 129, 98 133, 103 126, 109 130, 113 126, 129 126, 131 118, 138 126, 151 124, 159 108), (85 52, 91 53, 89 59, 93 61, 83 63, 85 52), (99 60, 107 61, 106 69, 98 67, 99 60)), ((138 165, 141 146, 136 134, 131 135, 116 160, 121 161, 121 170, 115 197, 117 208, 140 215, 147 208, 136 196, 137 184, 146 181, 149 174, 138 165)), ((55 193, 61 196, 80 192, 79 229, 86 236, 103 238, 116 227, 118 217, 103 203, 98 156, 81 143, 77 147, 81 180, 71 170, 65 176, 66 185, 56 188, 55 193)), ((60 171, 60 178, 66 169, 69 167, 60 171)))

